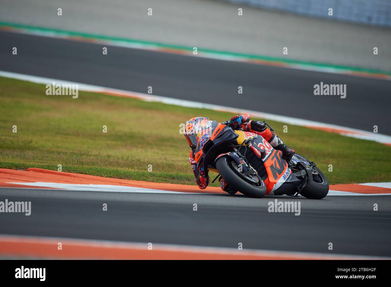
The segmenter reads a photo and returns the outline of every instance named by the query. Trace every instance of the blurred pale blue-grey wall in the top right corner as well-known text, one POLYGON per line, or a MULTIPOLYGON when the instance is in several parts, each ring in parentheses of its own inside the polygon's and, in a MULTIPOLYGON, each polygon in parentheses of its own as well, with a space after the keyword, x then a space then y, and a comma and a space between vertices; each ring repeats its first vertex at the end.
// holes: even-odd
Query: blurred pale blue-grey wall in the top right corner
POLYGON ((221 0, 331 20, 391 27, 390 0, 221 0), (333 9, 333 16, 328 9, 333 9))

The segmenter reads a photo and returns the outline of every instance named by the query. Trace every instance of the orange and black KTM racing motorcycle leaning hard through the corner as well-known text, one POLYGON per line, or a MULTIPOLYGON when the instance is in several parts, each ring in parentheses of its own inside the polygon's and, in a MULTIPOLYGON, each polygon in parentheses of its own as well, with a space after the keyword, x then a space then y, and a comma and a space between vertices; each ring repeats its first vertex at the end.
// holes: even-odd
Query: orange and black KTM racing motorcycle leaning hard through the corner
POLYGON ((212 182, 224 178, 235 191, 253 198, 300 194, 321 199, 327 195, 327 178, 314 162, 297 153, 287 162, 264 137, 234 130, 232 125, 209 121, 197 132, 196 168, 204 170, 205 176, 209 171, 218 173, 212 182))

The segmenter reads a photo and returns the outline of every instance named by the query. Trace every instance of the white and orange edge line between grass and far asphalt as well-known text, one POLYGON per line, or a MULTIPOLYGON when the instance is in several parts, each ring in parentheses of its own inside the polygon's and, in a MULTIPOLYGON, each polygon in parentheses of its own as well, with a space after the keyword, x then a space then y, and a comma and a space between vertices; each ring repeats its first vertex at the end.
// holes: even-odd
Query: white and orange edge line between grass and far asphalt
POLYGON ((81 91, 90 91, 90 92, 96 92, 96 93, 112 93, 112 94, 118 94, 118 95, 122 95, 122 96, 129 96, 129 97, 133 97, 133 98, 138 98, 140 100, 144 100, 147 102, 161 102, 161 103, 167 103, 170 105, 178 105, 181 107, 211 109, 214 111, 232 112, 234 114, 248 113, 251 116, 254 116, 257 118, 271 119, 274 121, 288 123, 291 125, 298 125, 298 126, 303 126, 303 127, 330 128, 330 129, 340 130, 341 132, 339 132, 339 134, 341 134, 341 135, 345 135, 348 137, 355 137, 357 139, 366 139, 369 141, 376 141, 378 143, 391 145, 391 136, 389 136, 389 135, 377 134, 374 132, 368 132, 365 130, 358 130, 355 128, 342 127, 339 125, 326 124, 326 123, 321 123, 318 121, 310 121, 307 119, 298 119, 298 118, 292 118, 292 117, 287 117, 287 116, 280 116, 280 115, 276 115, 276 114, 269 114, 269 113, 265 113, 265 112, 243 110, 243 109, 237 109, 237 108, 233 108, 233 107, 225 107, 225 106, 212 105, 212 104, 200 103, 200 102, 192 102, 192 101, 187 101, 187 100, 179 100, 176 98, 169 98, 169 97, 163 97, 163 96, 157 96, 157 95, 151 95, 151 94, 143 94, 143 93, 137 93, 137 92, 131 92, 131 91, 124 91, 124 90, 119 90, 119 89, 110 89, 107 87, 94 86, 94 85, 88 85, 88 84, 82 84, 82 83, 70 82, 70 81, 66 81, 66 80, 59 80, 59 79, 52 79, 52 78, 37 77, 37 76, 12 73, 12 72, 7 72, 7 71, 0 71, 0 76, 6 77, 6 78, 14 78, 14 79, 18 79, 18 80, 25 80, 25 81, 29 81, 29 82, 38 83, 38 84, 45 84, 45 85, 52 84, 52 82, 56 82, 56 84, 59 84, 59 85, 74 84, 74 85, 78 85, 79 90, 81 90, 81 91))

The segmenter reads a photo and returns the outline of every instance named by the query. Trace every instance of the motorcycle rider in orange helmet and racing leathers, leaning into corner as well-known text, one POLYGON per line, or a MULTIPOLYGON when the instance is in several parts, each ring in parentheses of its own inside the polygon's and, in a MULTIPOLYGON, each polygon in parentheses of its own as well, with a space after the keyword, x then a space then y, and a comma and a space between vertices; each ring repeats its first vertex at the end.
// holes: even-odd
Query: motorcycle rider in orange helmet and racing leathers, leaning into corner
MULTIPOLYGON (((197 132, 199 130, 205 130, 208 127, 209 119, 204 117, 195 117, 187 121, 185 126, 185 138, 189 144, 191 150, 189 154, 189 162, 192 166, 195 180, 200 189, 205 189, 209 184, 209 176, 205 176, 204 168, 200 167, 199 170, 196 169, 195 162, 195 148, 197 147, 197 132)), ((269 130, 265 123, 262 121, 250 121, 250 116, 248 114, 241 114, 233 116, 230 120, 232 123, 231 127, 235 130, 240 128, 246 132, 252 132, 254 134, 261 135, 264 137, 276 150, 282 151, 282 155, 285 160, 289 161, 294 155, 295 151, 286 146, 278 135, 274 134, 269 130)), ((235 194, 237 191, 233 190, 230 185, 228 185, 224 179, 221 180, 221 189, 226 191, 229 194, 235 194)))

